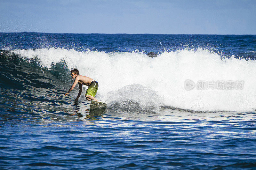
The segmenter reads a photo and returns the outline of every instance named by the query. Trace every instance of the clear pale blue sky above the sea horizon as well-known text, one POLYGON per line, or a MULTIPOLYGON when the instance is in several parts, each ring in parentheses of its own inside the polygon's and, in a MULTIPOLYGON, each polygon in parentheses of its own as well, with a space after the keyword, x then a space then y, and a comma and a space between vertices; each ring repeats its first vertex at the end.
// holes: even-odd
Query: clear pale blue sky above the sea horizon
POLYGON ((0 0, 0 32, 256 34, 255 0, 0 0))

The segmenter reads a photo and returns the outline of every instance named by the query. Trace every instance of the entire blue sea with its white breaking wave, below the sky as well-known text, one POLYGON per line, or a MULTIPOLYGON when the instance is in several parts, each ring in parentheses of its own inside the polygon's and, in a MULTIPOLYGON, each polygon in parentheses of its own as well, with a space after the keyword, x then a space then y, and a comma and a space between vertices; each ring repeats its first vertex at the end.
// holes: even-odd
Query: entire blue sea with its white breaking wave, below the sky
POLYGON ((0 33, 0 168, 256 169, 255 59, 256 35, 0 33), (64 95, 73 68, 106 109, 64 95))

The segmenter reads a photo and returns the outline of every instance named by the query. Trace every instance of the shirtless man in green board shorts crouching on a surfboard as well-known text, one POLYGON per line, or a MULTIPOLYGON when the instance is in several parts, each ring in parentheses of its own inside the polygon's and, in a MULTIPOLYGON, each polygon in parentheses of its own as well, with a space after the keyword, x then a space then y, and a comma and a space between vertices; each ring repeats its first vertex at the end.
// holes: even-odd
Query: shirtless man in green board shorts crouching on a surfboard
POLYGON ((89 86, 86 93, 85 93, 85 98, 86 100, 96 100, 96 101, 99 101, 97 99, 95 99, 95 94, 98 90, 98 82, 97 81, 94 81, 92 78, 89 78, 89 77, 86 77, 86 76, 82 76, 82 75, 79 75, 79 71, 77 69, 73 69, 70 71, 71 72, 71 77, 72 78, 75 78, 75 81, 73 83, 73 85, 70 87, 70 89, 68 90, 68 92, 65 93, 65 95, 67 96, 68 93, 73 90, 76 86, 76 84, 78 83, 79 85, 79 92, 78 92, 78 95, 75 99, 75 102, 78 101, 78 98, 80 97, 81 93, 82 93, 82 87, 83 85, 87 85, 89 86))

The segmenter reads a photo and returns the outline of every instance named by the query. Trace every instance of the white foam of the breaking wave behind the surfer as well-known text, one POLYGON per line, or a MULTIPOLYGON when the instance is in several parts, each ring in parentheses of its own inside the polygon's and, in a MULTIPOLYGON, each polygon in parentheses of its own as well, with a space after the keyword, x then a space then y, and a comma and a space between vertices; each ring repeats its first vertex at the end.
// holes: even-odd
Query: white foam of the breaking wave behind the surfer
POLYGON ((103 100, 136 100, 141 105, 161 105, 198 111, 253 111, 256 108, 256 61, 221 59, 208 50, 178 50, 150 58, 138 52, 79 52, 74 49, 42 48, 13 50, 26 58, 37 57, 42 66, 62 60, 82 75, 99 82, 103 100), (243 80, 242 90, 186 91, 186 79, 243 80), (143 87, 143 88, 142 88, 143 87), (137 90, 137 91, 136 91, 137 90), (145 91, 145 92, 143 92, 145 91), (145 101, 148 101, 145 102, 145 101))

